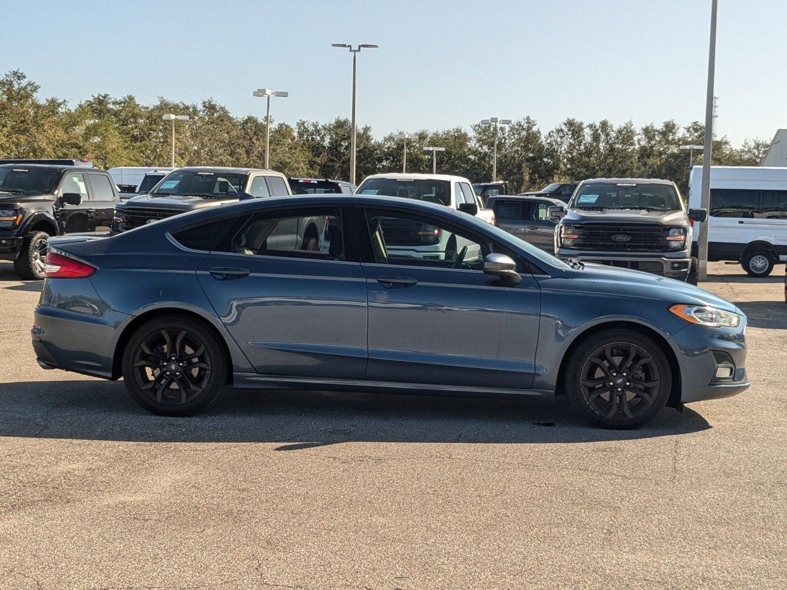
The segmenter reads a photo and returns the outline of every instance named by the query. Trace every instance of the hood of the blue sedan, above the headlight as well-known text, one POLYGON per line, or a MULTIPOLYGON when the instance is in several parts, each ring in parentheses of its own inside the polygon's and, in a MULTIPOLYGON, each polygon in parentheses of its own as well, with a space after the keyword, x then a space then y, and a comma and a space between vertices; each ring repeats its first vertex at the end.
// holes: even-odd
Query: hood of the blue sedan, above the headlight
POLYGON ((586 290, 664 301, 665 304, 711 305, 728 312, 744 315, 735 305, 718 295, 689 285, 687 282, 652 275, 648 272, 610 267, 605 264, 586 263, 582 270, 567 271, 567 275, 569 278, 577 278, 587 282, 587 285, 583 286, 583 289, 586 290))

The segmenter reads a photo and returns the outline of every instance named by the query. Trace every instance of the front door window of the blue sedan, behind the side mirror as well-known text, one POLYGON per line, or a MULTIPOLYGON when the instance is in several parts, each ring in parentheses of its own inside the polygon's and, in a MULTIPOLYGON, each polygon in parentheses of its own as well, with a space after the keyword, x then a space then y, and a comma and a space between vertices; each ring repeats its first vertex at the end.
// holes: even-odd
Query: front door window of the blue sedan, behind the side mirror
POLYGON ((481 271, 490 252, 488 242, 428 216, 369 209, 366 219, 377 264, 481 271))

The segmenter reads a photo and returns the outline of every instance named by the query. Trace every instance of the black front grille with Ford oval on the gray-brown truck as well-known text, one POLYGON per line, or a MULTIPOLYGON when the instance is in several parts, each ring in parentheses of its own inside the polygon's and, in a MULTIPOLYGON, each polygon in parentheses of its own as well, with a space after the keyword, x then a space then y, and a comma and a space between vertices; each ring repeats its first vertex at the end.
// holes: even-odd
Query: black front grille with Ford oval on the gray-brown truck
POLYGON ((678 226, 663 226, 659 223, 572 223, 577 238, 576 250, 608 250, 612 252, 668 252, 670 230, 678 226), (613 236, 620 236, 613 239, 613 236), (629 239, 623 238, 628 236, 629 239))

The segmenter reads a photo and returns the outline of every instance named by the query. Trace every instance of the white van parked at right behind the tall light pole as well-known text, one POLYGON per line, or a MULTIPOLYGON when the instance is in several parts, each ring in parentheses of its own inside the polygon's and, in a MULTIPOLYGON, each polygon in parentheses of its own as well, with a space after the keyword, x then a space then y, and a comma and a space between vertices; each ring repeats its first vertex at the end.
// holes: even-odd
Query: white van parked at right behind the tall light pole
MULTIPOLYGON (((689 208, 700 208, 702 167, 689 175, 689 208)), ((694 223, 693 252, 699 224, 694 223)), ((711 166, 708 260, 734 260, 753 277, 787 259, 787 168, 711 166)))

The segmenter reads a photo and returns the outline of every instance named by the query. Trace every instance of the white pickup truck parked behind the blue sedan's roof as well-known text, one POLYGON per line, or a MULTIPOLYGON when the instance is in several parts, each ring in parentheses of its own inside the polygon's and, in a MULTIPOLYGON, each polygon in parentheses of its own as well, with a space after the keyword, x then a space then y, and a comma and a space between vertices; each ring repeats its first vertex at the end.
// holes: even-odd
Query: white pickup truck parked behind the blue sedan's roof
MULTIPOLYGON (((487 223, 495 223, 492 209, 484 208, 470 181, 462 176, 375 174, 367 176, 355 194, 376 194, 437 203, 464 211, 487 223)), ((477 244, 467 242, 459 235, 440 231, 433 235, 429 228, 409 227, 409 224, 403 221, 398 222, 398 225, 402 227, 386 227, 386 247, 402 256, 449 260, 456 257, 464 245, 470 248, 464 260, 475 260, 474 256, 480 255, 477 244)))

